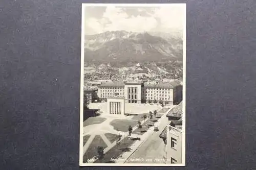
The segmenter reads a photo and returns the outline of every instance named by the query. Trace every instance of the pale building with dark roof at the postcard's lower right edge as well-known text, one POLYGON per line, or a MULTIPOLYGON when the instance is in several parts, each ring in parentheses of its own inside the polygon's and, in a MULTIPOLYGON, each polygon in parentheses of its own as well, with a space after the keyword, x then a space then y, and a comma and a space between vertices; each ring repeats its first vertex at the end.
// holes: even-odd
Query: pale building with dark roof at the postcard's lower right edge
POLYGON ((182 102, 167 113, 169 122, 159 135, 166 144, 166 163, 182 164, 182 102))

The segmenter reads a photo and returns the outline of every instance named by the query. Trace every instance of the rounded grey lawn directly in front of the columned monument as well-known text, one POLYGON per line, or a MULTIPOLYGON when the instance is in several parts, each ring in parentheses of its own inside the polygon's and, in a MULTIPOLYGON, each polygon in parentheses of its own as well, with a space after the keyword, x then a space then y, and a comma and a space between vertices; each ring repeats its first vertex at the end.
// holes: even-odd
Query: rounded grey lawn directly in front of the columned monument
POLYGON ((114 119, 110 123, 117 131, 128 132, 128 128, 136 126, 138 123, 134 120, 114 119))

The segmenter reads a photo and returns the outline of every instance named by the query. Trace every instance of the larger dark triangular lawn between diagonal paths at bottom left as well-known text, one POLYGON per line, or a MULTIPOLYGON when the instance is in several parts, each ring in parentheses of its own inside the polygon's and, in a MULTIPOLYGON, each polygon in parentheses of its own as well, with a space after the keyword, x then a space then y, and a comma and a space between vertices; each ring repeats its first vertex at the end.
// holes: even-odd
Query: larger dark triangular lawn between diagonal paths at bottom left
POLYGON ((83 155, 83 162, 87 162, 87 159, 91 159, 94 156, 97 156, 98 147, 103 147, 105 149, 106 147, 108 147, 108 145, 106 145, 106 143, 103 141, 100 135, 95 135, 92 143, 90 144, 90 147, 88 148, 86 153, 83 155))

